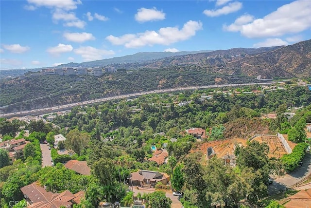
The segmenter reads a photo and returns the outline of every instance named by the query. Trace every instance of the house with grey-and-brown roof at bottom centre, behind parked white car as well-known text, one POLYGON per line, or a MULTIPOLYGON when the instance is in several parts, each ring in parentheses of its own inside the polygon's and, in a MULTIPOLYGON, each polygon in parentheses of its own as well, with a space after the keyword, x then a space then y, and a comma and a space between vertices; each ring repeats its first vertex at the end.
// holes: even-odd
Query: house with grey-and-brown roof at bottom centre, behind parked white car
POLYGON ((151 171, 151 170, 138 170, 133 172, 128 178, 128 183, 133 186, 155 186, 160 182, 166 185, 170 181, 170 176, 163 172, 151 171))

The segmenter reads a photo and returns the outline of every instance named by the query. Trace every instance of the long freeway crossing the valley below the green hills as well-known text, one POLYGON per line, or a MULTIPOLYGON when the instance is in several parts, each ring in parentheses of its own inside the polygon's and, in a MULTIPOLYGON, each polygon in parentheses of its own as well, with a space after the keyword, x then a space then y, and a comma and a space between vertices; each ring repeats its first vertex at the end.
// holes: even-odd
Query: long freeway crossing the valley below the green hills
POLYGON ((53 113, 53 112, 58 112, 58 111, 69 110, 75 106, 83 106, 83 105, 89 105, 89 104, 94 104, 94 103, 106 102, 109 100, 124 99, 124 98, 136 97, 136 96, 141 96, 141 95, 171 93, 171 92, 183 91, 183 90, 196 90, 196 89, 235 87, 235 86, 238 87, 238 86, 247 86, 247 85, 255 85, 255 84, 266 85, 266 84, 275 84, 275 83, 276 82, 272 81, 272 82, 261 82, 261 83, 221 84, 221 85, 179 87, 179 88, 170 88, 170 89, 163 89, 163 90, 153 90, 153 91, 146 91, 146 92, 134 93, 134 94, 128 94, 128 95, 117 95, 117 96, 105 97, 105 98, 100 98, 100 99, 81 101, 77 103, 54 106, 50 108, 35 109, 35 110, 30 110, 30 111, 21 111, 21 112, 15 112, 15 113, 4 113, 4 114, 0 114, 0 118, 2 117, 11 118, 14 116, 39 115, 43 113, 53 113))

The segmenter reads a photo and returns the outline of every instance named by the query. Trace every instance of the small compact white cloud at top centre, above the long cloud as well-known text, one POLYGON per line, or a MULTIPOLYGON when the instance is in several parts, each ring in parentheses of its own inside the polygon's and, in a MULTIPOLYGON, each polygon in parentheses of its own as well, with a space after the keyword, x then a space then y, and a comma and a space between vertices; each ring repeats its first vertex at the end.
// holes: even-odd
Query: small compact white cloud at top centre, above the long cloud
POLYGON ((152 9, 140 8, 135 15, 138 22, 156 21, 165 19, 165 13, 157 10, 155 7, 152 9))

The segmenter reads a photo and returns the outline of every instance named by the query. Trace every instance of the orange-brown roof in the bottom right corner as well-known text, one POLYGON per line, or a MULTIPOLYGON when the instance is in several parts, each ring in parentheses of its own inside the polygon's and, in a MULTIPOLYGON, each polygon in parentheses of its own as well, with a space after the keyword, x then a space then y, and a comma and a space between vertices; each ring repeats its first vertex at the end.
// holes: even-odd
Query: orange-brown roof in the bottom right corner
POLYGON ((300 190, 293 196, 288 197, 289 201, 284 205, 285 208, 310 208, 311 189, 300 190))

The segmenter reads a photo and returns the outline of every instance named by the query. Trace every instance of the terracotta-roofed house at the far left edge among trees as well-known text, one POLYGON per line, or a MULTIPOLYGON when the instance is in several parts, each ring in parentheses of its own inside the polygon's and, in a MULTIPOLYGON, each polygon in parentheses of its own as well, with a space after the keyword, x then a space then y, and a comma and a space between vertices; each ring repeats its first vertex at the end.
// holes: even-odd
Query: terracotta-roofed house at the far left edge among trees
POLYGON ((24 156, 24 148, 28 143, 30 143, 30 141, 26 141, 24 138, 11 139, 0 143, 0 149, 9 152, 10 164, 13 164, 17 158, 24 156))

